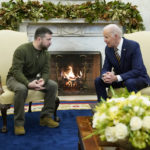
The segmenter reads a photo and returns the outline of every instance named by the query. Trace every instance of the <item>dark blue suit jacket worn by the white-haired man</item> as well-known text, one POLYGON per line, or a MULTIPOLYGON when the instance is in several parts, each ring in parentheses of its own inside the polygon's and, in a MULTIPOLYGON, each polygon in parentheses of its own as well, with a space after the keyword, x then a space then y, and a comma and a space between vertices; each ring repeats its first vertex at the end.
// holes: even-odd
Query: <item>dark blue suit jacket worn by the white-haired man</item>
POLYGON ((142 77, 150 85, 150 78, 143 64, 140 46, 135 41, 124 38, 120 65, 115 57, 114 48, 106 46, 105 61, 101 75, 107 71, 111 71, 112 68, 114 68, 114 72, 120 75, 123 80, 142 77))

